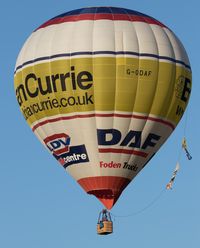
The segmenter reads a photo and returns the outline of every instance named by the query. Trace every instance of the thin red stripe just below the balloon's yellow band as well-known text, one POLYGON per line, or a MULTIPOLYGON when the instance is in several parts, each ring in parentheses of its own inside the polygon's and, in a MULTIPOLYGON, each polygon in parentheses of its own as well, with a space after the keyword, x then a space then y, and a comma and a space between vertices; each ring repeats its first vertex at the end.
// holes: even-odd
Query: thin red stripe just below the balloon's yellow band
POLYGON ((142 120, 150 120, 158 123, 162 123, 168 127, 170 127, 172 130, 175 129, 175 126, 169 122, 165 121, 159 118, 155 117, 149 117, 149 116, 140 116, 140 115, 128 115, 128 114, 85 114, 85 115, 72 115, 72 116, 65 116, 65 117, 57 117, 48 119, 45 121, 41 121, 40 123, 37 123, 32 127, 32 131, 34 132, 38 127, 41 127, 43 125, 46 125, 47 123, 57 122, 61 120, 72 120, 72 119, 78 119, 78 118, 90 118, 90 117, 120 117, 120 118, 135 118, 135 119, 142 119, 142 120))

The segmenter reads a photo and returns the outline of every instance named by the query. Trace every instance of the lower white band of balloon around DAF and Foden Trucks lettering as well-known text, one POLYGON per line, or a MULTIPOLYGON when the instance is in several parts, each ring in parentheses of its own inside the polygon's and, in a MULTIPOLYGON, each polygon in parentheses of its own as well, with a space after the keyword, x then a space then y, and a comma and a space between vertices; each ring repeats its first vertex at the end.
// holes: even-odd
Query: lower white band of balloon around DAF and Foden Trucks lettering
MULTIPOLYGON (((105 112, 106 113, 106 112, 105 112)), ((104 113, 104 114, 105 114, 104 113)), ((82 113, 84 116, 84 114, 82 113)), ((69 116, 69 115, 68 115, 69 116)), ((54 118, 57 118, 54 117, 54 118)), ((48 119, 48 118, 46 118, 48 119)), ((52 119, 52 117, 50 118, 52 119)), ((43 140, 53 134, 65 133, 70 136, 69 147, 84 145, 89 157, 89 162, 75 163, 67 167, 69 174, 75 179, 90 177, 90 176, 121 176, 132 179, 142 169, 146 161, 153 153, 161 146, 165 139, 172 132, 172 128, 164 123, 155 120, 140 119, 140 118, 124 118, 124 117, 85 117, 68 120, 61 120, 47 123, 38 127, 35 134, 44 144, 43 140), (130 125, 129 125, 130 123, 130 125), (126 128, 124 128, 126 127, 126 128), (121 140, 115 145, 100 146, 97 142, 97 129, 117 129, 121 132, 121 140), (130 140, 127 146, 121 146, 122 140, 126 137, 130 130, 142 131, 141 146, 149 133, 155 133, 161 136, 161 139, 156 143, 155 147, 149 146, 146 150, 134 148, 135 151, 144 152, 148 156, 130 155, 124 153, 101 153, 99 148, 125 149, 132 150, 129 147, 130 140), (109 168, 109 166, 101 166, 102 164, 115 163, 119 164, 119 168, 109 168), (125 163, 131 165, 136 164, 136 171, 123 168, 125 163)))

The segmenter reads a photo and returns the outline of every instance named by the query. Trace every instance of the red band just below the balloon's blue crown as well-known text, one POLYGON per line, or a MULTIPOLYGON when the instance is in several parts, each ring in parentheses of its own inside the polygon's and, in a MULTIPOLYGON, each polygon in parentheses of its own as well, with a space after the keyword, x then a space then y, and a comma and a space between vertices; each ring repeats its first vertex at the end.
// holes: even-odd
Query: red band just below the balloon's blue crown
POLYGON ((83 20, 114 20, 114 21, 131 21, 131 22, 146 22, 148 24, 156 24, 161 27, 166 27, 161 22, 146 16, 136 16, 136 15, 127 15, 127 14, 80 14, 80 15, 72 15, 72 16, 64 16, 55 19, 51 19, 44 24, 42 24, 39 28, 45 28, 50 25, 60 24, 63 22, 76 22, 83 20))

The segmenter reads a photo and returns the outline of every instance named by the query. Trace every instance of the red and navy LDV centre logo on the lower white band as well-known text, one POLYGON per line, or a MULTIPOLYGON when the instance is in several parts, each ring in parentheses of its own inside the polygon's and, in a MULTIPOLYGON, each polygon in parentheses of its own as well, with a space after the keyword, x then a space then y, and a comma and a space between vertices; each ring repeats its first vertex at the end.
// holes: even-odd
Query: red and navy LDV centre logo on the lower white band
POLYGON ((70 141, 70 136, 65 133, 54 134, 44 139, 47 148, 64 168, 89 162, 85 145, 70 146, 70 141))

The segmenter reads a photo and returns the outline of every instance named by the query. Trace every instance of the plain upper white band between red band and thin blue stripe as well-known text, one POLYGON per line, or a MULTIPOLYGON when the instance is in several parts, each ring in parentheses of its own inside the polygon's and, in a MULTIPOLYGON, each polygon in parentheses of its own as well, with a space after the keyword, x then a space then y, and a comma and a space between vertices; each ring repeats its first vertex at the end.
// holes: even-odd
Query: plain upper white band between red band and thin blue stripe
POLYGON ((47 26, 32 33, 18 56, 16 67, 35 58, 93 51, 139 52, 173 59, 175 53, 175 59, 189 64, 181 42, 167 28, 143 22, 87 20, 47 26))

